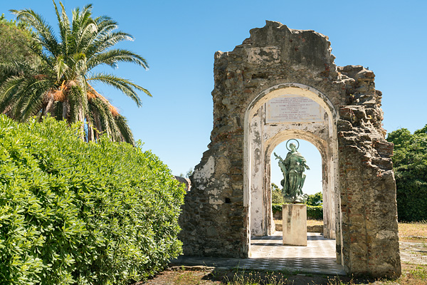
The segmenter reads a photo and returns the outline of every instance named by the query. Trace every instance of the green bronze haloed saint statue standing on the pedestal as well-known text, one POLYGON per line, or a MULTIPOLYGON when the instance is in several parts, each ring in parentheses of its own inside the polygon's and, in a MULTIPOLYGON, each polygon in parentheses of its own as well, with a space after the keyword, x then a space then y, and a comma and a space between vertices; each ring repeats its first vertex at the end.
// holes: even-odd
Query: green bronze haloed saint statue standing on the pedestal
POLYGON ((302 186, 304 186, 305 182, 304 171, 306 168, 310 170, 310 167, 305 164, 305 158, 297 151, 297 147, 293 142, 289 144, 289 147, 290 152, 286 155, 285 160, 276 155, 275 152, 274 155, 279 160, 279 167, 283 173, 283 180, 280 184, 283 187, 282 195, 285 198, 285 202, 300 202, 302 186))

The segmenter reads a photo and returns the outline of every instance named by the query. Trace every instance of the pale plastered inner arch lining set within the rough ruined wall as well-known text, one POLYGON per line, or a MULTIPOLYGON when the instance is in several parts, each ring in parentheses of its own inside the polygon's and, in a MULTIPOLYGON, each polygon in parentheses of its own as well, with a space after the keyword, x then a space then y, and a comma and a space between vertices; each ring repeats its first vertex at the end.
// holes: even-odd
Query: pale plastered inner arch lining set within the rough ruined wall
MULTIPOLYGON (((249 208, 250 236, 273 232, 270 155, 280 142, 300 138, 315 145, 322 156, 324 234, 327 238, 337 237, 337 249, 341 249, 336 118, 337 113, 325 95, 315 88, 297 83, 268 88, 249 105, 244 129, 244 203, 249 208)), ((248 247, 250 251, 250 241, 248 247)), ((339 250, 339 264, 342 263, 341 257, 339 250)))

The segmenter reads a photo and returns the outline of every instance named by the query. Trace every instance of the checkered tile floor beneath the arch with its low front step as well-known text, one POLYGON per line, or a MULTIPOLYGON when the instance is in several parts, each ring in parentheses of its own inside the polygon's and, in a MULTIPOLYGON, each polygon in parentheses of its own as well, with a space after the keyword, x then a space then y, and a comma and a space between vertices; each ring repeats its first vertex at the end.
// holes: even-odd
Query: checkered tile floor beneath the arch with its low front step
POLYGON ((336 262, 335 240, 317 233, 307 233, 307 247, 282 245, 282 232, 269 237, 251 239, 251 258, 227 259, 180 256, 171 265, 215 266, 223 269, 265 269, 274 271, 304 271, 317 274, 345 275, 336 262))

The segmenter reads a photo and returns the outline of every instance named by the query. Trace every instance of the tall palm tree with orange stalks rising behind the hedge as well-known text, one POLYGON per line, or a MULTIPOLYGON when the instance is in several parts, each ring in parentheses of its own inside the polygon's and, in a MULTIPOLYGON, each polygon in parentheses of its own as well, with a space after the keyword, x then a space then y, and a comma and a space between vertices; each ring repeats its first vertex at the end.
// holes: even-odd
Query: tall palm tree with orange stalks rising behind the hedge
POLYGON ((33 46, 33 50, 41 63, 0 65, 0 78, 6 77, 0 83, 0 112, 19 121, 51 114, 69 123, 82 122, 85 140, 97 140, 100 133, 107 133, 114 141, 135 143, 125 117, 93 85, 98 82, 117 88, 138 106, 142 105, 138 90, 151 94, 125 78, 94 70, 103 64, 115 68, 119 62, 136 63, 147 69, 147 61, 131 51, 111 48, 133 38, 115 31, 117 22, 110 17, 94 18, 92 5, 74 9, 70 21, 63 4, 59 4, 61 11, 53 0, 59 40, 41 15, 31 9, 11 10, 19 21, 33 28, 33 39, 38 46, 33 46))

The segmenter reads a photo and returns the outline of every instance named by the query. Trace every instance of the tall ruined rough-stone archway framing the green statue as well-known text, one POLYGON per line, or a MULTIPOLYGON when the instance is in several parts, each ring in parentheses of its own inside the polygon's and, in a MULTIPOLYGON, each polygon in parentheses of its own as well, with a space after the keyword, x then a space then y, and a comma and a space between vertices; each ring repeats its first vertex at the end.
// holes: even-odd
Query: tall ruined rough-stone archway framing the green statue
POLYGON ((251 234, 268 234, 270 227, 265 202, 251 204, 251 193, 265 195, 268 187, 265 155, 295 135, 321 149, 337 261, 352 274, 399 276, 393 145, 381 128, 374 73, 337 67, 320 33, 267 21, 233 51, 215 54, 214 78, 211 143, 195 167, 180 217, 184 254, 248 258, 251 234), (266 103, 288 95, 314 100, 322 120, 268 123, 266 103), (264 216, 257 217, 254 207, 264 216), (255 219, 263 222, 260 229, 255 219))

